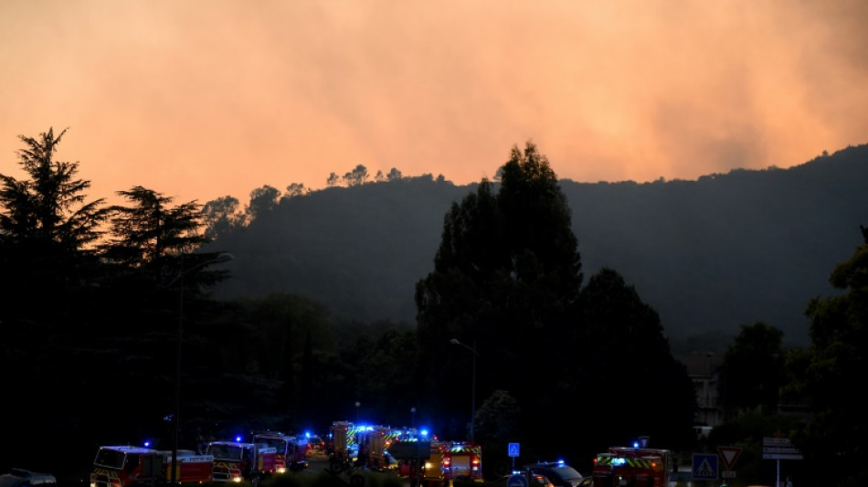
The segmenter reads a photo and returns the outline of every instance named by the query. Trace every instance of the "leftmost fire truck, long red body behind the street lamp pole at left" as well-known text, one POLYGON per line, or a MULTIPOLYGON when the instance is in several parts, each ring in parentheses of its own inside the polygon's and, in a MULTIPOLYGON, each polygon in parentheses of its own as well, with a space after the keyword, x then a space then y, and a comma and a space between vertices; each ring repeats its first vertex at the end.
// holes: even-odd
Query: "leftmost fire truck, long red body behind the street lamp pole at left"
MULTIPOLYGON (((177 451, 177 482, 211 482, 214 457, 197 455, 192 450, 177 451)), ((131 487, 165 484, 171 480, 172 451, 122 446, 103 446, 97 450, 90 473, 90 487, 131 487)))

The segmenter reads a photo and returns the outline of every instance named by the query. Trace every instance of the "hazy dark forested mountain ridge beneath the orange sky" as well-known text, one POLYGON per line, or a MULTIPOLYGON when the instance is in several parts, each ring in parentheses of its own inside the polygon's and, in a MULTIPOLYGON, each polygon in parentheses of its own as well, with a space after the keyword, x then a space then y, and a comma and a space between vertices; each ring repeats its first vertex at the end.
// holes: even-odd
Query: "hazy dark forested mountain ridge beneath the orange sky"
MULTIPOLYGON (((789 169, 560 185, 586 281, 617 270, 684 351, 724 346, 757 321, 807 344, 808 301, 834 292, 828 276, 868 224, 865 182, 868 145, 789 169)), ((444 217, 474 190, 427 175, 285 198, 208 246, 236 257, 215 295, 290 292, 335 321, 415 323, 416 283, 433 268, 444 217)))

